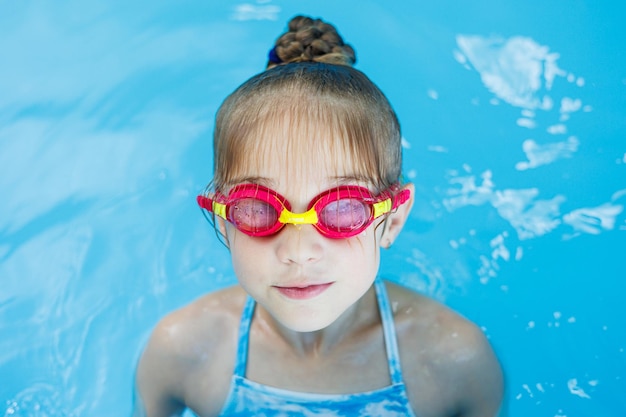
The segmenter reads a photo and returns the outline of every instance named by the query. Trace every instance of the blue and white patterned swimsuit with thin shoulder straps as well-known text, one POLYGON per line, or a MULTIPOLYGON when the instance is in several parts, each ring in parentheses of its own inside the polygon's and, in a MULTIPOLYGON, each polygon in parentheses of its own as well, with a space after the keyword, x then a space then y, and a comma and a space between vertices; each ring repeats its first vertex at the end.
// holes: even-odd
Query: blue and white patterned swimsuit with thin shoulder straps
POLYGON ((382 318, 391 385, 374 391, 355 394, 311 394, 288 391, 246 379, 248 333, 255 302, 248 298, 241 316, 239 347, 230 392, 220 416, 239 417, 415 417, 407 398, 393 314, 385 285, 375 281, 378 308, 382 318))

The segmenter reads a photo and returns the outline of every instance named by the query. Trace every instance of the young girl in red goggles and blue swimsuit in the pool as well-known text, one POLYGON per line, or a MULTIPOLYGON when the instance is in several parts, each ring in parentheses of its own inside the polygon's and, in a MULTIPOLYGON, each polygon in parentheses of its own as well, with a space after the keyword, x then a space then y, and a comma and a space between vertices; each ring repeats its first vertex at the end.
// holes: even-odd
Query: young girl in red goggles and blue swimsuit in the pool
POLYGON ((221 106, 198 197, 239 285, 165 317, 137 369, 136 416, 494 416, 482 332, 384 282, 407 219, 400 129, 334 28, 297 17, 267 71, 221 106))

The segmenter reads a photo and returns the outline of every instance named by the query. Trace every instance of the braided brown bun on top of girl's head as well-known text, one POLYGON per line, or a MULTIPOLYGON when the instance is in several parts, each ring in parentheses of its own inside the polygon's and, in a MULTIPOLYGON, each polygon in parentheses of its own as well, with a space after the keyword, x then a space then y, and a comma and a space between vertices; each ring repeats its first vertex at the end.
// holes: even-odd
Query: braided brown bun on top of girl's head
POLYGON ((288 31, 276 40, 267 68, 292 62, 353 66, 356 55, 333 25, 321 19, 296 16, 289 21, 288 31))

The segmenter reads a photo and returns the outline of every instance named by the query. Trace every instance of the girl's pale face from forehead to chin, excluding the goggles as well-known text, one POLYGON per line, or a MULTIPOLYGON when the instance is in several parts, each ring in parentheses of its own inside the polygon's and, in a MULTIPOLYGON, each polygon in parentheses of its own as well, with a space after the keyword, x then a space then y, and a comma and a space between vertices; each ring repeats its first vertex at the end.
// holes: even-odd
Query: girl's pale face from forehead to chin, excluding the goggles
MULTIPOLYGON (((277 136, 263 139, 276 141, 277 136)), ((288 161, 286 152, 273 152, 262 163, 251 161, 251 171, 238 182, 277 191, 294 213, 305 212, 311 199, 338 185, 372 189, 358 180, 350 158, 336 152, 341 151, 300 155, 295 161, 293 156, 288 161), (327 166, 330 154, 332 167, 327 166)), ((308 224, 287 224, 268 237, 248 236, 226 222, 220 227, 241 286, 280 324, 310 332, 329 326, 371 287, 378 273, 379 245, 385 244, 383 221, 379 218, 348 239, 326 238, 308 224)))

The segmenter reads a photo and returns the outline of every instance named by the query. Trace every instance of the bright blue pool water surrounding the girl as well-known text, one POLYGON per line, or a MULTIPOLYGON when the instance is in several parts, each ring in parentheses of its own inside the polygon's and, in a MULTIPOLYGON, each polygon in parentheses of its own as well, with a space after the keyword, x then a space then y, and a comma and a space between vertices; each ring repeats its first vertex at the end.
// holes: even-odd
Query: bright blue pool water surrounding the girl
POLYGON ((510 416, 626 416, 626 6, 592 0, 0 1, 0 413, 128 415, 152 326, 234 283, 194 196, 298 13, 403 125, 383 275, 484 329, 510 416))

